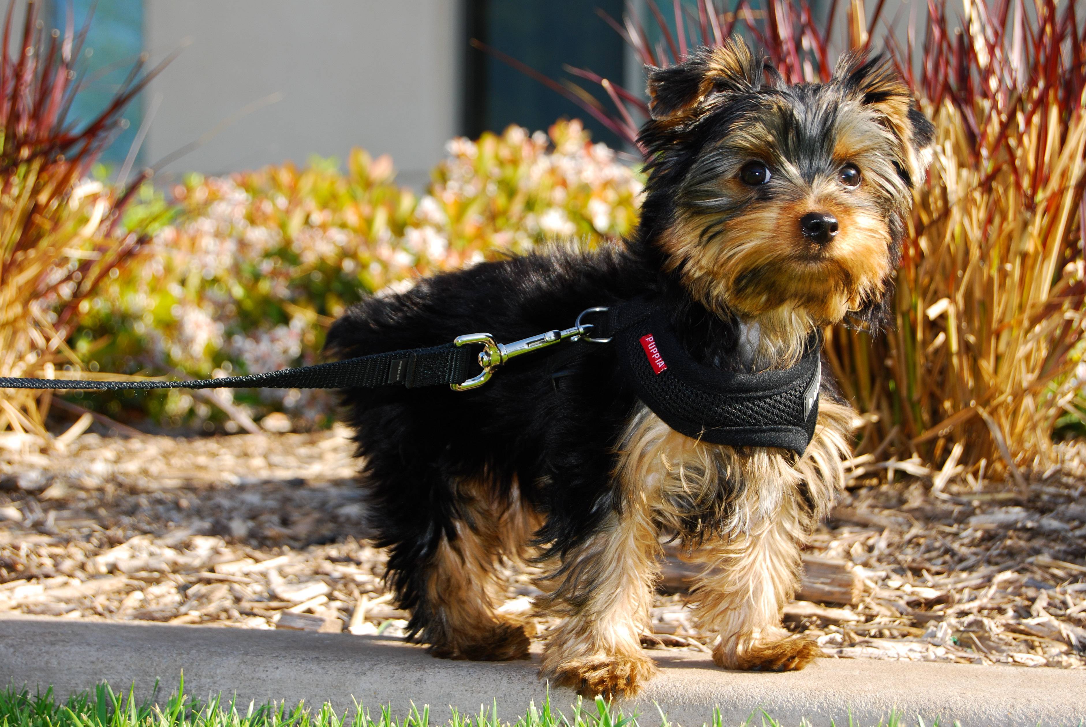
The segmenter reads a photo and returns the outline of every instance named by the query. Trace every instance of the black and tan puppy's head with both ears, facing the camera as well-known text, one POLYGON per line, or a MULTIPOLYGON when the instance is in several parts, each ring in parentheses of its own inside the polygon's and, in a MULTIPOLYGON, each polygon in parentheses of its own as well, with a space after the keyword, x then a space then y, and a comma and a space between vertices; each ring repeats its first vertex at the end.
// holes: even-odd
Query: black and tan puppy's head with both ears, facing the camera
POLYGON ((881 58, 788 86, 742 40, 652 68, 641 239, 710 310, 881 317, 931 122, 881 58))

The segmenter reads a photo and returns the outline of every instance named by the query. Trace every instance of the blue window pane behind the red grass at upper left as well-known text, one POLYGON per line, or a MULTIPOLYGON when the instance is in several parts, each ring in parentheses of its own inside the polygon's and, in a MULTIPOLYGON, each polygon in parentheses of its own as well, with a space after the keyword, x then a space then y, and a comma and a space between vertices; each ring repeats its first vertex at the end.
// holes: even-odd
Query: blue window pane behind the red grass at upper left
MULTIPOLYGON (((94 7, 93 0, 50 0, 47 23, 64 32, 71 9, 78 33, 94 7)), ((80 62, 86 66, 84 87, 76 96, 70 122, 83 126, 105 110, 143 52, 143 0, 98 2, 84 42, 80 62)), ((117 170, 128 155, 143 116, 141 96, 128 104, 124 118, 127 128, 118 129, 102 162, 117 170)), ((136 164, 141 160, 137 158, 136 164)))

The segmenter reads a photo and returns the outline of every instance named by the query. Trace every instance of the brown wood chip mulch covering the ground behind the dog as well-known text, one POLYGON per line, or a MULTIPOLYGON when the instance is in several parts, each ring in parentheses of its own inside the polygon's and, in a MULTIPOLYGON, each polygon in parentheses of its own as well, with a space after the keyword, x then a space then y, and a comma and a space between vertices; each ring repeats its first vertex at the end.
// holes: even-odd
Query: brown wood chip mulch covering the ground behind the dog
MULTIPOLYGON (((0 617, 403 635, 345 430, 39 446, 0 435, 0 617)), ((829 656, 1086 667, 1086 446, 1060 453, 1026 488, 908 463, 858 477, 809 554, 862 588, 790 604, 790 628, 829 656)), ((510 574, 503 610, 535 593, 510 574)), ((706 650, 682 593, 652 623, 647 648, 706 650)))

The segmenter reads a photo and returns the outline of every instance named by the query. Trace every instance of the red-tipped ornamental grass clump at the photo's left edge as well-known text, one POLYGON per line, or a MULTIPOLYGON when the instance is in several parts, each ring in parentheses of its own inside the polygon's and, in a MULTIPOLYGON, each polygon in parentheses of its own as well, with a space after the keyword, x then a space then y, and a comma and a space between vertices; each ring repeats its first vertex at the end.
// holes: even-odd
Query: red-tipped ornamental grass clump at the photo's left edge
MULTIPOLYGON (((138 62, 109 105, 77 127, 67 112, 86 28, 49 33, 28 2, 12 38, 15 4, 0 48, 0 376, 53 378, 80 367, 66 342, 78 314, 143 239, 121 220, 139 183, 117 192, 87 176, 154 72, 141 75, 138 62)), ((48 392, 0 390, 0 431, 48 440, 50 401, 48 392)))

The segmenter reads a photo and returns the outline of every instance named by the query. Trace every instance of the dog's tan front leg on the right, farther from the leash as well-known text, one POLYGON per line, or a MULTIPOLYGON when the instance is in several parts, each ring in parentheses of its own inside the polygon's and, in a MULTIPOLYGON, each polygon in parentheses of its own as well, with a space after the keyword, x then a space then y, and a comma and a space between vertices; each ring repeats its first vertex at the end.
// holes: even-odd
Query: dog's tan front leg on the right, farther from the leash
POLYGON ((774 517, 754 523, 694 553, 707 568, 692 603, 700 629, 716 636, 712 661, 730 669, 801 669, 818 644, 781 626, 784 604, 799 582, 799 543, 808 516, 792 493, 774 517))

